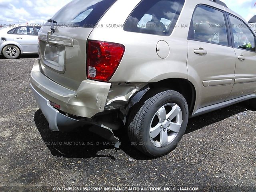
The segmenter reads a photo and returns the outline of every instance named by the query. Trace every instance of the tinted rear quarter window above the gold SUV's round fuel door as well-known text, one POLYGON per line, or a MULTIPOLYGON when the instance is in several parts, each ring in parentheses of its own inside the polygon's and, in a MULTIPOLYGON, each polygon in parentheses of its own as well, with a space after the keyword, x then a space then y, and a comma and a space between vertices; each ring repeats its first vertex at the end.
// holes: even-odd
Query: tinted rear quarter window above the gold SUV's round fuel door
POLYGON ((183 5, 184 0, 142 0, 128 17, 124 30, 169 36, 183 5))

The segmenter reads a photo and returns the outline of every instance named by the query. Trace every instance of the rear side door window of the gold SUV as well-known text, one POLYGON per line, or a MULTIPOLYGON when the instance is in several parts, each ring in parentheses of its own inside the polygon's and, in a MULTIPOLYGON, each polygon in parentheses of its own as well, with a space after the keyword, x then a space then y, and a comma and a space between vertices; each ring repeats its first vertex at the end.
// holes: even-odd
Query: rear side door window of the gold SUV
POLYGON ((207 6, 198 6, 192 17, 192 22, 189 39, 228 45, 223 12, 207 6))

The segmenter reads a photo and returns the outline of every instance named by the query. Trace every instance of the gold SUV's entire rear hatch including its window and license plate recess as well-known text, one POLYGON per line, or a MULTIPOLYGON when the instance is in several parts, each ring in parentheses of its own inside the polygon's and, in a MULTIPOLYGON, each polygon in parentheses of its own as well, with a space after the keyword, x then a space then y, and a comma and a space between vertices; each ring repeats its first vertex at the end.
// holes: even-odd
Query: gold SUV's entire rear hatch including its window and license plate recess
POLYGON ((71 90, 86 80, 87 39, 115 1, 73 0, 44 24, 38 34, 39 58, 48 78, 71 90))

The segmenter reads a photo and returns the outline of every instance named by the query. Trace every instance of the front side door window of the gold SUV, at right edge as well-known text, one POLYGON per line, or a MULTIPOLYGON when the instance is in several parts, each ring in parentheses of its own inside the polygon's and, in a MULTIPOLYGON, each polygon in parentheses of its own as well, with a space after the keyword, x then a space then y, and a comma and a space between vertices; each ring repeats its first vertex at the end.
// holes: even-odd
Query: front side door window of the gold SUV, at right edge
POLYGON ((229 16, 232 25, 235 47, 255 51, 254 35, 241 20, 229 16))

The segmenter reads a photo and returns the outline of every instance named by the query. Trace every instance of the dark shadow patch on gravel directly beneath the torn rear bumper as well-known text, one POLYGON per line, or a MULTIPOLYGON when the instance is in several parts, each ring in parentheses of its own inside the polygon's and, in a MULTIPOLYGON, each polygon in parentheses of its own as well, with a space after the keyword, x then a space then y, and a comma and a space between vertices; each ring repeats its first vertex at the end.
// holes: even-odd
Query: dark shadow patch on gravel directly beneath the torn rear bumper
POLYGON ((107 141, 100 136, 89 132, 90 126, 77 128, 72 132, 54 132, 49 129, 48 122, 41 110, 35 113, 34 120, 42 139, 53 156, 67 158, 108 157, 114 159, 112 155, 97 155, 97 152, 113 148, 113 146, 104 143, 107 141))

